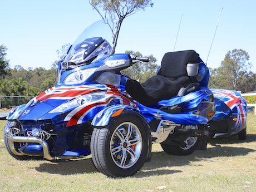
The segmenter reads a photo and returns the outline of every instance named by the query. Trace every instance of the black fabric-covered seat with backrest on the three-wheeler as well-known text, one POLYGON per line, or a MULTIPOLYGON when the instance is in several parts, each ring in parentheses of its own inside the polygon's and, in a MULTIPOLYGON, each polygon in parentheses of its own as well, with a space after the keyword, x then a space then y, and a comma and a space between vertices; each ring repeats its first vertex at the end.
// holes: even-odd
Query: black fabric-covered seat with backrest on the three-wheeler
POLYGON ((186 72, 186 65, 198 62, 199 56, 193 50, 165 53, 158 75, 142 84, 128 80, 126 91, 143 105, 153 105, 158 101, 170 99, 178 94, 181 87, 192 83, 186 72))

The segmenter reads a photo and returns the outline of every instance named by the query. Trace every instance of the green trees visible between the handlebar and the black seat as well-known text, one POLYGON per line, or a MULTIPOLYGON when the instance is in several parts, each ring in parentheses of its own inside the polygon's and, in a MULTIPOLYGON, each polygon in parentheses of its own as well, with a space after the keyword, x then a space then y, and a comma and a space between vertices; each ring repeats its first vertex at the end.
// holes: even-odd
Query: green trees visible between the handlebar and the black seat
MULTIPOLYGON (((142 54, 139 51, 126 51, 125 53, 142 57, 142 54)), ((149 62, 134 63, 134 65, 132 65, 129 68, 126 68, 122 72, 124 72, 127 76, 134 80, 140 82, 146 81, 148 78, 155 75, 157 69, 157 65, 155 64, 156 58, 152 55, 146 57, 149 57, 149 62)))

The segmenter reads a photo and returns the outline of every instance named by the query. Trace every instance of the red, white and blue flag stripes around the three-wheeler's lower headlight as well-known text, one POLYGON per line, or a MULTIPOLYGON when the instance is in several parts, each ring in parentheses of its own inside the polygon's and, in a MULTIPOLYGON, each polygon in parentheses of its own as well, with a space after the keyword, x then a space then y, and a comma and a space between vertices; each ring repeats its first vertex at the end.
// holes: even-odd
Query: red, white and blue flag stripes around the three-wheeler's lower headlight
POLYGON ((137 108, 137 104, 131 99, 126 91, 110 85, 85 85, 79 87, 52 87, 38 95, 35 101, 45 101, 49 99, 70 100, 88 93, 106 91, 106 95, 101 100, 90 102, 76 107, 68 112, 64 121, 68 121, 66 126, 73 126, 85 123, 92 119, 97 112, 104 107, 114 104, 122 104, 137 108))

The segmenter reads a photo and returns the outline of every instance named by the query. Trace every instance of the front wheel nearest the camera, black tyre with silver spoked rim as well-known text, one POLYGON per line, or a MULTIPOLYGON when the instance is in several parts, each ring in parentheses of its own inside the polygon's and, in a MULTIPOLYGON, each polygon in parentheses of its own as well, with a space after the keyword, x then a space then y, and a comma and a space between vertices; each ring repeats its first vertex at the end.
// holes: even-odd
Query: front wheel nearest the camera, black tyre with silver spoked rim
POLYGON ((92 161, 111 177, 134 175, 147 156, 147 128, 133 115, 120 115, 102 129, 94 128, 91 137, 92 161))

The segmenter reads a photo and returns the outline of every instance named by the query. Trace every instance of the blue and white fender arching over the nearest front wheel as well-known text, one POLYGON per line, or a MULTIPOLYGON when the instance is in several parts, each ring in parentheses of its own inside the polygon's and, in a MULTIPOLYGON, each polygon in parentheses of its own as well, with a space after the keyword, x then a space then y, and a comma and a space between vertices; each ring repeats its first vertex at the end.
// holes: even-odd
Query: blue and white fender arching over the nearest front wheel
POLYGON ((128 105, 111 105, 101 110, 100 112, 98 112, 97 115, 93 117, 91 125, 92 126, 108 125, 111 119, 113 118, 112 115, 118 110, 123 110, 122 113, 124 113, 125 111, 133 111, 133 112, 139 113, 139 110, 128 105))

